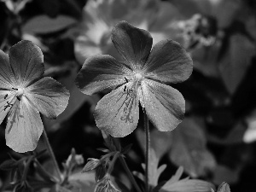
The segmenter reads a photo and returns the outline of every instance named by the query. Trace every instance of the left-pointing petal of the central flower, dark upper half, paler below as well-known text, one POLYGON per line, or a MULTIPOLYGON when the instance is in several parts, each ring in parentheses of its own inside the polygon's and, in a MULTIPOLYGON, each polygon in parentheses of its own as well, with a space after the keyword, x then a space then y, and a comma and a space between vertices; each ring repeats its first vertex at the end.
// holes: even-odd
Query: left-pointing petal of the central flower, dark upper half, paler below
POLYGON ((87 95, 125 83, 125 74, 131 69, 110 55, 94 55, 88 58, 79 71, 75 83, 87 95))

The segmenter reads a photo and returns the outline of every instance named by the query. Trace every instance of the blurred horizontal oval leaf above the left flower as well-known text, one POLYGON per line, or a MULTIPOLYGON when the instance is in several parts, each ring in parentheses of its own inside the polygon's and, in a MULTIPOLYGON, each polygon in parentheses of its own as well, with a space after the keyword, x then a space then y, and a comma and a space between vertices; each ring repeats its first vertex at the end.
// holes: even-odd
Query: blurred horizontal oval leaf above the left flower
POLYGON ((30 34, 47 34, 49 32, 61 31, 62 29, 72 26, 77 22, 77 20, 66 15, 59 15, 55 18, 50 18, 47 15, 38 15, 26 22, 22 27, 22 32, 30 34))

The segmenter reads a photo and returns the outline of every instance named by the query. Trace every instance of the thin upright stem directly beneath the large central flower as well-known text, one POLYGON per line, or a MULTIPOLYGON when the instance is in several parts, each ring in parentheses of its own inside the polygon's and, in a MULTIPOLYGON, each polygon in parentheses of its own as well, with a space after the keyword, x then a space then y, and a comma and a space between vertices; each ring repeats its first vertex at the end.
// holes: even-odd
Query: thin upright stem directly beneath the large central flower
POLYGON ((150 135, 148 127, 148 116, 144 111, 144 130, 146 135, 146 151, 145 151, 145 191, 148 192, 148 159, 149 159, 149 145, 150 145, 150 135))

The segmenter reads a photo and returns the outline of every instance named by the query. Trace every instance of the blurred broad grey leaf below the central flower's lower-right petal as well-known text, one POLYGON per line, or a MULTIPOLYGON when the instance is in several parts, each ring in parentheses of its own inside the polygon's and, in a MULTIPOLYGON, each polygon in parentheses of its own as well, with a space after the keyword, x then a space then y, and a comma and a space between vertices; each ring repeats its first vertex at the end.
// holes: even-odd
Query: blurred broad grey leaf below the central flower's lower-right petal
POLYGON ((177 166, 183 166, 192 177, 203 176, 216 166, 213 155, 207 150, 206 136, 195 119, 184 119, 172 131, 169 157, 177 166))

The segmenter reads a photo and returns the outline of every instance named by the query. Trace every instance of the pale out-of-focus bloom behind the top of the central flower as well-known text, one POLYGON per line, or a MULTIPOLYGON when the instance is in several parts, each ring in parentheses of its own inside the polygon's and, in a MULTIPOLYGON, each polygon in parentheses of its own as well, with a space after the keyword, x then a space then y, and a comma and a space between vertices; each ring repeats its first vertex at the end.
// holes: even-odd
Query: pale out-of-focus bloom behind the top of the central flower
MULTIPOLYGON (((79 37, 74 44, 74 53, 83 64, 91 55, 108 54, 118 56, 111 44, 111 31, 119 20, 148 30, 154 43, 166 38, 176 39, 177 30, 170 23, 181 19, 177 8, 169 2, 159 0, 89 0, 84 6, 79 37)), ((180 34, 180 32, 179 32, 180 34)), ((153 43, 153 44, 154 44, 153 43)))

